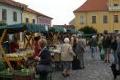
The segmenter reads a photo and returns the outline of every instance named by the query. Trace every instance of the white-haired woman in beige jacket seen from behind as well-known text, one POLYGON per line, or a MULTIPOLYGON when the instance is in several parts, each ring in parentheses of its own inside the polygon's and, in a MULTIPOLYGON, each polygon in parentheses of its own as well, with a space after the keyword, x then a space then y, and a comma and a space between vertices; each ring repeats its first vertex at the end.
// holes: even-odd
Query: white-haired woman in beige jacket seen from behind
POLYGON ((72 61, 75 53, 70 45, 69 38, 64 39, 64 44, 61 47, 61 61, 63 62, 63 76, 69 76, 72 68, 72 61))

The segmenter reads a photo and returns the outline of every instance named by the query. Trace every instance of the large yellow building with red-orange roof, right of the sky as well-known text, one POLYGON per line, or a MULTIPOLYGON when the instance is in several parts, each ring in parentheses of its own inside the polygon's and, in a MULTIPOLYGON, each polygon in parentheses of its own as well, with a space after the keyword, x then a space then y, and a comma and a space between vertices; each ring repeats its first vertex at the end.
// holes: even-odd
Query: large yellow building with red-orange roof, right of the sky
POLYGON ((91 26, 98 32, 120 30, 120 0, 87 0, 74 11, 74 26, 91 26))

